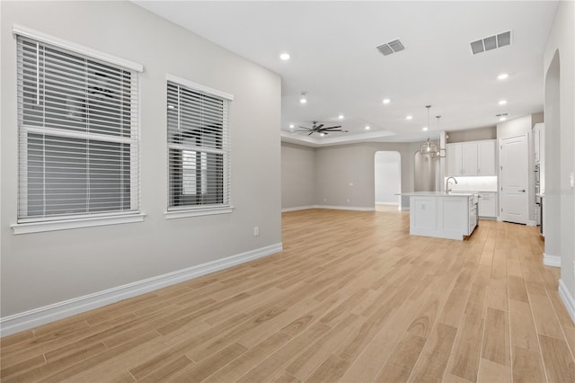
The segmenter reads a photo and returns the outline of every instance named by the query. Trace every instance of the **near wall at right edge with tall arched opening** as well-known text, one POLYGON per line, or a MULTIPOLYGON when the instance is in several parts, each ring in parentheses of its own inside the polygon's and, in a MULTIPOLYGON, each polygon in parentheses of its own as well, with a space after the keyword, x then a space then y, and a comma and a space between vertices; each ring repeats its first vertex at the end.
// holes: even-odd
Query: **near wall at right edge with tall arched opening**
MULTIPOLYGON (((559 248, 561 284, 575 320, 575 3, 562 1, 544 50, 545 74, 545 253, 559 248), (559 70, 553 67, 558 58, 559 70), (558 84, 554 84, 559 80, 558 84), (558 85, 558 92, 553 89, 558 85), (558 97, 557 97, 558 96, 558 97), (551 183, 550 183, 551 182, 551 183), (551 202, 551 203, 550 203, 551 202), (552 206, 549 206, 552 205, 552 206), (553 214, 554 213, 554 214, 553 214)), ((560 286, 560 290, 562 287, 560 286)), ((566 301, 566 298, 563 298, 566 301)))

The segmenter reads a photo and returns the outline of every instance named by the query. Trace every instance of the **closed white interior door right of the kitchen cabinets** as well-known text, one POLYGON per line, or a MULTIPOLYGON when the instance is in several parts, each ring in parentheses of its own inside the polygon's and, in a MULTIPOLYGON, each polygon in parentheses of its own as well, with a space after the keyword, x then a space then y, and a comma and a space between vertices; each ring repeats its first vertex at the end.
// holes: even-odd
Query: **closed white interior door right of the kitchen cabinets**
POLYGON ((501 219, 527 223, 527 136, 501 139, 501 219))

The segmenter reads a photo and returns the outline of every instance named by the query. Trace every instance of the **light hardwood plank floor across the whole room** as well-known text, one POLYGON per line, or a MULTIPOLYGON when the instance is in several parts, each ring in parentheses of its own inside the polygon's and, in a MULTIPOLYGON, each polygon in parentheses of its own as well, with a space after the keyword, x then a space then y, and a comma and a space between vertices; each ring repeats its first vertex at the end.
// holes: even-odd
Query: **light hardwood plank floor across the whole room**
POLYGON ((536 227, 283 215, 284 251, 2 339, 3 382, 574 382, 536 227))

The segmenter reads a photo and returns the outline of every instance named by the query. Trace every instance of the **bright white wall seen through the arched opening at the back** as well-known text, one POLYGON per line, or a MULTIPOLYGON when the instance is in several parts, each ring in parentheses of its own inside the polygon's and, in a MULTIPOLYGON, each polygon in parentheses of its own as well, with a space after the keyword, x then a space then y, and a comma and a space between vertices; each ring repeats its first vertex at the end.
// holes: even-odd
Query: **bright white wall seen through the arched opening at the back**
POLYGON ((402 172, 399 152, 376 152, 376 203, 399 205, 395 194, 402 191, 402 172))

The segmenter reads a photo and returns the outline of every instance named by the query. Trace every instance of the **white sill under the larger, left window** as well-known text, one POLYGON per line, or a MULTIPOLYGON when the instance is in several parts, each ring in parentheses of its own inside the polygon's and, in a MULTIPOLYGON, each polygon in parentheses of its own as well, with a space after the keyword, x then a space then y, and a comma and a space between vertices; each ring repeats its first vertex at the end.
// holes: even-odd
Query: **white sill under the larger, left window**
POLYGON ((80 227, 96 227, 96 226, 118 225, 132 222, 142 222, 144 221, 144 217, 146 217, 146 214, 138 213, 123 216, 70 218, 58 221, 14 224, 11 227, 13 229, 14 235, 19 235, 19 234, 40 233, 43 231, 67 230, 71 228, 80 228, 80 227))

